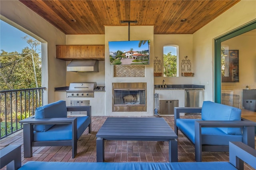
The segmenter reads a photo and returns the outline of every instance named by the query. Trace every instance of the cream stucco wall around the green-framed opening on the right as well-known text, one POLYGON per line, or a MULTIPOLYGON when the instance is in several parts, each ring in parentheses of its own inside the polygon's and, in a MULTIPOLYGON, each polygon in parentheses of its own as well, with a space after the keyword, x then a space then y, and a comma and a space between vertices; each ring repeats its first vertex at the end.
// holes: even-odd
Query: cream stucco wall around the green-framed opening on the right
POLYGON ((256 19, 256 1, 241 0, 193 34, 193 84, 205 85, 204 100, 214 101, 214 39, 256 19))

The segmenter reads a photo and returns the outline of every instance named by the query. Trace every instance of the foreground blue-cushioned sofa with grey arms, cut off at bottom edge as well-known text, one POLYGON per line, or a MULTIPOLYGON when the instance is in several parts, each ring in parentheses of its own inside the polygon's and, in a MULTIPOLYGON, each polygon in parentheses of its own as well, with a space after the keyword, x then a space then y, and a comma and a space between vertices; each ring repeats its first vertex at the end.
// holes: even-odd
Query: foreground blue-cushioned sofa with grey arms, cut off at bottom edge
POLYGON ((0 150, 1 166, 7 170, 243 170, 244 162, 256 168, 256 150, 242 142, 230 142, 229 162, 40 162, 21 166, 21 146, 0 150))

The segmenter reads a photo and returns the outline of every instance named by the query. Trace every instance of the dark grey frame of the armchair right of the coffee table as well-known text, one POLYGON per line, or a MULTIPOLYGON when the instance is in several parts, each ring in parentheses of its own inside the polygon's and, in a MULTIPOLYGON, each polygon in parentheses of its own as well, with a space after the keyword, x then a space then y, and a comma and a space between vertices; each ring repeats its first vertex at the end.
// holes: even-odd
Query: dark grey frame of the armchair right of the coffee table
MULTIPOLYGON (((180 119, 180 113, 201 113, 202 107, 174 107, 174 132, 178 135, 176 119, 180 119)), ((228 145, 202 145, 202 127, 239 127, 242 128, 243 143, 254 148, 255 122, 242 119, 242 121, 195 121, 195 159, 202 161, 202 151, 228 152, 228 145)), ((183 132, 182 132, 183 133, 183 132)), ((185 136, 186 134, 183 133, 185 136)), ((187 137, 187 136, 186 136, 187 137)))

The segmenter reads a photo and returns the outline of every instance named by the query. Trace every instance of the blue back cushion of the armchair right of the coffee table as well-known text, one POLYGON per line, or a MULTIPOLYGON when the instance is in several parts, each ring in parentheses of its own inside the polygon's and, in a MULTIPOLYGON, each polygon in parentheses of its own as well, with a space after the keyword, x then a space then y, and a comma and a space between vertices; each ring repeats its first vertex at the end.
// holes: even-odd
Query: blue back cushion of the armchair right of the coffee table
MULTIPOLYGON (((241 121, 241 109, 204 101, 202 106, 202 120, 204 121, 241 121)), ((241 128, 219 128, 226 134, 242 134, 241 128)))

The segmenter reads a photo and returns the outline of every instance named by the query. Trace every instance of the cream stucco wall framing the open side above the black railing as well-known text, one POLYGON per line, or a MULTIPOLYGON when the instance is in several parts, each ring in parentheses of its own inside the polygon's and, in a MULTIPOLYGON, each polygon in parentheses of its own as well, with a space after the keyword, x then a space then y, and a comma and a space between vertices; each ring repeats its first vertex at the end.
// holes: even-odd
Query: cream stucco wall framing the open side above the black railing
POLYGON ((47 88, 44 104, 54 102, 54 87, 66 85, 66 72, 62 71, 66 62, 56 59, 56 45, 66 43, 65 34, 18 0, 1 0, 0 15, 1 20, 42 42, 42 87, 47 88))

